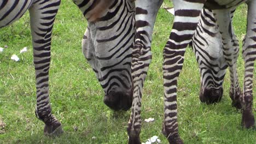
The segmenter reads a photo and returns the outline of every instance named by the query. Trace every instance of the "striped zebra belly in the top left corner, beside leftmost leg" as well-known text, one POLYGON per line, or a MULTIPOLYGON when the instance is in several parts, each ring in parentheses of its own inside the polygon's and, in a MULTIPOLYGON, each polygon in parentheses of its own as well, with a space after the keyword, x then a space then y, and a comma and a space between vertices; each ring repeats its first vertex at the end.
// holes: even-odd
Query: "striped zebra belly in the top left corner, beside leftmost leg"
POLYGON ((33 0, 1 0, 0 28, 18 20, 30 8, 33 0))

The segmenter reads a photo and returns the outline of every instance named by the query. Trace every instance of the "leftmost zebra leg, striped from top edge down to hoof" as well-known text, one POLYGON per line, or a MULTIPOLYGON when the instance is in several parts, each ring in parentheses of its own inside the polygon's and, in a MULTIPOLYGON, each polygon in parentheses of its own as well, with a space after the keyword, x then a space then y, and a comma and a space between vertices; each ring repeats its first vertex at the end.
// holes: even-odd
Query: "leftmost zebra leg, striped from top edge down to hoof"
POLYGON ((36 70, 36 116, 45 123, 45 135, 63 133, 61 123, 51 113, 49 100, 49 68, 51 32, 60 0, 37 1, 30 8, 34 67, 36 70))

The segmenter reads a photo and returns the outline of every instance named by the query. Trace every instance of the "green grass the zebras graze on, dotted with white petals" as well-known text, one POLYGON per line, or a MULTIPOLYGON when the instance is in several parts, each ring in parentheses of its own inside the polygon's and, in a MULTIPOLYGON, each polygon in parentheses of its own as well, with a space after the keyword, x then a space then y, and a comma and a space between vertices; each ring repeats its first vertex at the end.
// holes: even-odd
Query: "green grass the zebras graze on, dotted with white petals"
MULTIPOLYGON (((164 5, 170 6, 171 3, 166 0, 164 5)), ((234 19, 240 40, 246 31, 245 8, 242 5, 234 19)), ((142 119, 153 117, 155 121, 142 123, 143 142, 157 135, 162 143, 167 143, 161 134, 161 65, 162 49, 170 34, 172 20, 172 15, 160 9, 153 36, 153 62, 148 71, 142 101, 142 119)), ((130 111, 113 112, 103 104, 102 88, 81 50, 85 28, 86 21, 80 11, 70 0, 63 0, 53 31, 50 70, 51 105, 65 130, 62 136, 56 138, 43 135, 44 124, 34 115, 36 89, 28 13, 20 21, 1 29, 0 47, 8 45, 8 49, 0 53, 0 121, 5 123, 0 143, 127 143, 126 125, 130 111), (12 61, 11 55, 18 54, 25 46, 28 52, 19 55, 21 61, 12 61), (96 139, 91 139, 93 136, 96 139)), ((238 66, 242 84, 241 56, 238 66)), ((231 107, 228 78, 229 74, 226 75, 224 97, 219 104, 200 103, 199 69, 194 53, 191 49, 187 50, 178 84, 179 133, 185 143, 256 143, 256 132, 242 129, 241 114, 231 107)), ((256 81, 253 92, 256 95, 256 81)), ((256 100, 254 107, 255 104, 256 100)))

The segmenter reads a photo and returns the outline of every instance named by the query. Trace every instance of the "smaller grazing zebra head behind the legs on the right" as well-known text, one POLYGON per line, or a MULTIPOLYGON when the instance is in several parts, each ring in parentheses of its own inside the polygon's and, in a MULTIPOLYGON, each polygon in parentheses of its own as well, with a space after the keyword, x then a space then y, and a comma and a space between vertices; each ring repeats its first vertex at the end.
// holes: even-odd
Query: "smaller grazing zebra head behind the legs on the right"
POLYGON ((207 104, 216 103, 223 95, 222 84, 228 64, 223 55, 222 37, 211 10, 201 11, 191 45, 201 74, 200 100, 207 104))

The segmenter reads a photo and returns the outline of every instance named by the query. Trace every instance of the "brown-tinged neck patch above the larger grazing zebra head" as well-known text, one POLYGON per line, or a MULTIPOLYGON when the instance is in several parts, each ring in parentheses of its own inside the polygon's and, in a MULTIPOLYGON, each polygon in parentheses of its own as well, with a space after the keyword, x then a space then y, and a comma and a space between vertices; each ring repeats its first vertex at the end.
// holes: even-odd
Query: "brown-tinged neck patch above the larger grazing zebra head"
POLYGON ((89 22, 96 22, 106 15, 117 0, 73 0, 89 22))

